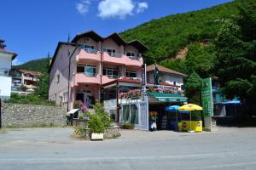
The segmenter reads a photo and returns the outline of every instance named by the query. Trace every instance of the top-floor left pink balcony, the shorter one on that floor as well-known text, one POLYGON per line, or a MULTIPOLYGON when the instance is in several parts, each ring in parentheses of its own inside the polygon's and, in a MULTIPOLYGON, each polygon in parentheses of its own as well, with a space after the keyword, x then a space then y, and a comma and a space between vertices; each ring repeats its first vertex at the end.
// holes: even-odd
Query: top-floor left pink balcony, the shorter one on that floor
POLYGON ((81 49, 81 51, 80 51, 79 55, 77 56, 76 60, 77 60, 77 62, 86 60, 86 61, 90 61, 90 62, 93 62, 93 63, 97 63, 97 62, 101 61, 101 53, 97 50, 81 49))

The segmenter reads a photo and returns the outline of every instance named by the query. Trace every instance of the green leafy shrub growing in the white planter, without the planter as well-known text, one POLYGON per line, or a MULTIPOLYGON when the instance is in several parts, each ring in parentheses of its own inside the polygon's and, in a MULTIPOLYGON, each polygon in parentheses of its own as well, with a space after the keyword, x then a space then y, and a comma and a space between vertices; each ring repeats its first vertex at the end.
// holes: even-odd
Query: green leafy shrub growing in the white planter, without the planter
POLYGON ((90 116, 88 127, 92 130, 92 133, 104 133, 105 130, 101 117, 96 114, 90 116))

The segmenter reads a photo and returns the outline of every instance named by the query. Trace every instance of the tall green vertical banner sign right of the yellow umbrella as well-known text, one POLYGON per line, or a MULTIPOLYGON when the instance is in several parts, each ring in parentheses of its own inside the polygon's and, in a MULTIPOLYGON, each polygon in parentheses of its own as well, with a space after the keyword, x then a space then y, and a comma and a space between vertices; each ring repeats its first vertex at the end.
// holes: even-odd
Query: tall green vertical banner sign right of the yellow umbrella
POLYGON ((203 79, 203 87, 201 89, 201 105, 203 107, 204 116, 213 116, 212 102, 212 79, 203 79))

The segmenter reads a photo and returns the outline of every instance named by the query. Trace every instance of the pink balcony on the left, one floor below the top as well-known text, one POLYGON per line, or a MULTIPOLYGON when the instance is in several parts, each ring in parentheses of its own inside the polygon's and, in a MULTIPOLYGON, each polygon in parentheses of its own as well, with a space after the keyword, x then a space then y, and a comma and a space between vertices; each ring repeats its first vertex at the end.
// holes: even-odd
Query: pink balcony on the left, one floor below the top
POLYGON ((84 73, 76 73, 74 76, 74 85, 78 86, 79 83, 88 83, 88 84, 100 84, 101 77, 96 75, 95 77, 90 77, 84 73))

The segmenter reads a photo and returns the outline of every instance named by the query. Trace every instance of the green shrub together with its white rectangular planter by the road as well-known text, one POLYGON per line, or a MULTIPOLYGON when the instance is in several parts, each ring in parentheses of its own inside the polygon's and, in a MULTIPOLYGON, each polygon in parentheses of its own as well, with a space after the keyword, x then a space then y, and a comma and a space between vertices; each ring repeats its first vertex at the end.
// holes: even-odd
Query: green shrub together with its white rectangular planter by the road
POLYGON ((100 116, 91 115, 88 121, 88 127, 91 129, 90 139, 91 140, 102 140, 103 133, 105 130, 104 123, 102 122, 100 116))

